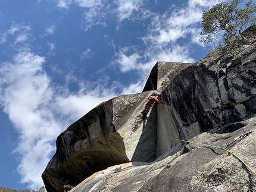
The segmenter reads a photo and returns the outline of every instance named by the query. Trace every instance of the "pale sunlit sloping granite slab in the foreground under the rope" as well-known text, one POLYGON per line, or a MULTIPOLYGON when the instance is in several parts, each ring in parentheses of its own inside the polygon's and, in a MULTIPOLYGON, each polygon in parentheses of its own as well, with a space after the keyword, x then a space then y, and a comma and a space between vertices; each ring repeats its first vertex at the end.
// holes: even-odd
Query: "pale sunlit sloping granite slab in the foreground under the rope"
MULTIPOLYGON (((256 118, 241 122, 252 133, 236 141, 229 150, 256 170, 256 118)), ((202 133, 191 141, 226 146, 243 134, 242 128, 232 133, 202 133)), ((71 192, 120 191, 255 191, 256 176, 234 156, 214 147, 187 144, 186 152, 177 152, 151 163, 130 162, 96 172, 71 192)))

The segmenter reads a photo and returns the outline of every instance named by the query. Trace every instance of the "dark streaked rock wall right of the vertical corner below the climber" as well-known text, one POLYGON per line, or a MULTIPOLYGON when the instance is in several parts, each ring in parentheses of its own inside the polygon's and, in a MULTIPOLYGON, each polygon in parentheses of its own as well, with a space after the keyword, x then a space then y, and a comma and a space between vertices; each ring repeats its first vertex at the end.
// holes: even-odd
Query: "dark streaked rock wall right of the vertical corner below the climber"
POLYGON ((163 90, 166 104, 157 110, 157 156, 179 151, 177 139, 200 133, 256 114, 256 43, 235 56, 223 54, 197 62, 176 75, 163 90), (167 128, 171 127, 171 128, 167 128))

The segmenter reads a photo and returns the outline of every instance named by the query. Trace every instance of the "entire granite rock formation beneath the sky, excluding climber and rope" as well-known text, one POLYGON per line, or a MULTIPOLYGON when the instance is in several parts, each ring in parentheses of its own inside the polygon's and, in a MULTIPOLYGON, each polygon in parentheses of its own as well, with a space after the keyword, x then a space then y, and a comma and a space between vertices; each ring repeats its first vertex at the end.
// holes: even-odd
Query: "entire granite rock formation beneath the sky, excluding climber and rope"
POLYGON ((256 190, 256 176, 226 151, 180 141, 234 141, 228 149, 256 169, 255 51, 256 42, 195 64, 158 62, 142 93, 101 103, 60 134, 46 190, 80 182, 73 191, 256 190), (144 119, 152 90, 163 103, 144 119))

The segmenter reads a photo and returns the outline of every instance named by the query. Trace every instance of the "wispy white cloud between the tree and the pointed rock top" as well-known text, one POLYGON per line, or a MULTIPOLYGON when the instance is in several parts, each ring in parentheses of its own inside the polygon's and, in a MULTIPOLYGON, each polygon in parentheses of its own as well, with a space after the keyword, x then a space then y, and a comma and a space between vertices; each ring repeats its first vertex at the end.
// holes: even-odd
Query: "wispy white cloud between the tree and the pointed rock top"
MULTIPOLYGON (((120 1, 123 2, 123 1, 120 1)), ((113 64, 118 65, 123 73, 130 70, 148 71, 157 61, 195 62, 189 56, 189 48, 198 43, 201 15, 204 9, 218 1, 188 1, 182 8, 167 10, 164 14, 151 12, 151 23, 141 37, 145 50, 119 48, 113 64), (179 45, 178 40, 187 39, 179 45)))

